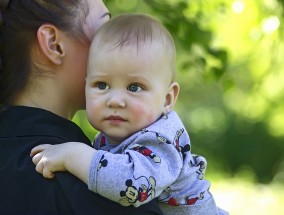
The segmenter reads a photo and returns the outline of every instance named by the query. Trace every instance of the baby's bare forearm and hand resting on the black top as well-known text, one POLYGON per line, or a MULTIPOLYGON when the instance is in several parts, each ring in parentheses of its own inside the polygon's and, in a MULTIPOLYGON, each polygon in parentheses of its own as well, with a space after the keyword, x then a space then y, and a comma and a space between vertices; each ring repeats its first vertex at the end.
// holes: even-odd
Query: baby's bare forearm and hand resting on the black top
POLYGON ((90 163, 95 153, 96 150, 86 144, 68 142, 36 146, 31 157, 36 171, 46 178, 53 178, 58 171, 68 171, 88 184, 90 163))

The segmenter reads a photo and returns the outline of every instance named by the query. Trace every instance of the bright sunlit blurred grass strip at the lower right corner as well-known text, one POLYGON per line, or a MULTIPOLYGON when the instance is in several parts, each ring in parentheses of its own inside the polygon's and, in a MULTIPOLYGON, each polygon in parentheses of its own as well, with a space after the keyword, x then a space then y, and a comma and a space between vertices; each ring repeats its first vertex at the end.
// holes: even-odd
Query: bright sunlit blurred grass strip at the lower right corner
POLYGON ((231 215, 284 214, 284 185, 260 185, 242 178, 211 180, 217 205, 231 215))

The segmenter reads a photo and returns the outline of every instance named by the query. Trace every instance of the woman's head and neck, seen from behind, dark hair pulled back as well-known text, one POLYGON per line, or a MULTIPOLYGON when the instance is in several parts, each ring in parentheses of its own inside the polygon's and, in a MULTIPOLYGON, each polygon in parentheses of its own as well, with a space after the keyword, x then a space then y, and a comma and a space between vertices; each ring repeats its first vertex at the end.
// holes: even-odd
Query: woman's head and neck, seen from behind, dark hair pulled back
POLYGON ((84 86, 79 85, 83 85, 90 39, 109 19, 102 1, 0 0, 0 11, 0 105, 13 104, 27 88, 31 93, 33 87, 40 87, 43 79, 58 79, 58 94, 76 108, 82 106, 74 92, 82 88, 78 97, 84 98, 84 86), (68 84, 73 92, 67 92, 68 84))

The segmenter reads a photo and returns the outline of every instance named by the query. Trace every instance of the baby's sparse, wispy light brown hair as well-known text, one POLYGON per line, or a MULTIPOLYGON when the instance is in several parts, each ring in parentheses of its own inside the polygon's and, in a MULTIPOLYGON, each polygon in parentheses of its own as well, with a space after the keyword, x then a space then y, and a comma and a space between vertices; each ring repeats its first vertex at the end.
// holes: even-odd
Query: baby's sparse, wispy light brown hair
POLYGON ((92 45, 92 51, 100 51, 105 47, 123 49, 125 47, 139 47, 151 43, 158 43, 161 51, 167 56, 172 72, 172 81, 176 73, 176 48, 169 31, 156 19, 146 14, 122 14, 104 24, 97 32, 92 45))

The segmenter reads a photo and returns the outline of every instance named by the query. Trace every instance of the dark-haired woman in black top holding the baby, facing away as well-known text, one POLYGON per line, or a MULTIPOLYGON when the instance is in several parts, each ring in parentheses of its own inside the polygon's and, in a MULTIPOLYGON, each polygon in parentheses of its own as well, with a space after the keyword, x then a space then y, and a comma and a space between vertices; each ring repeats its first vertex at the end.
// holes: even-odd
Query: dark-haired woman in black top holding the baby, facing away
MULTIPOLYGON (((46 180, 30 150, 88 138, 70 121, 83 109, 90 40, 109 19, 101 0, 0 0, 0 214, 160 214, 88 191, 68 173, 46 180)), ((84 164, 82 164, 84 165, 84 164)))

